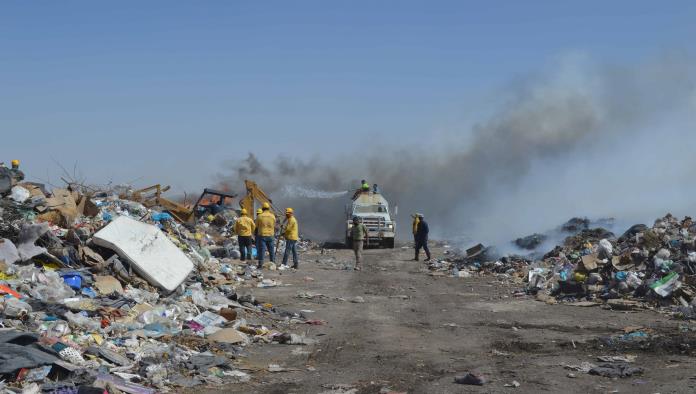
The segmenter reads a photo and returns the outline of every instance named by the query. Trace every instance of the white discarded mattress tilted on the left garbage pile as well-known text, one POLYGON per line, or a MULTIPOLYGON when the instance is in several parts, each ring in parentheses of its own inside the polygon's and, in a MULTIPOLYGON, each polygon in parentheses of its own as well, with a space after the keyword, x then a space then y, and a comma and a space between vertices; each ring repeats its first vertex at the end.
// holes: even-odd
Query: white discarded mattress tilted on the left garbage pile
POLYGON ((151 284, 174 291, 193 270, 189 258, 157 227, 119 216, 92 238, 128 260, 151 284))

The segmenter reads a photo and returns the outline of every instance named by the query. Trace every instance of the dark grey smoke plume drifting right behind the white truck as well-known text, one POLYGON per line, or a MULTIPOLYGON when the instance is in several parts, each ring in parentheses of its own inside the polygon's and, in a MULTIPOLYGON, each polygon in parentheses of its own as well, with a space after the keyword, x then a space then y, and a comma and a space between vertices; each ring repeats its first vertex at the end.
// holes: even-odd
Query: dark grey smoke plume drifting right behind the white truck
POLYGON ((685 56, 629 66, 570 56, 511 84, 492 116, 444 141, 424 136, 419 146, 331 160, 260 163, 249 154, 220 181, 234 190, 254 179, 275 202, 293 206, 316 239, 342 237, 348 196, 288 190, 327 197, 363 178, 399 206, 401 238, 410 236, 412 212, 425 213, 435 237, 484 242, 572 216, 630 222, 688 213, 696 208, 688 181, 696 164, 695 70, 685 56))

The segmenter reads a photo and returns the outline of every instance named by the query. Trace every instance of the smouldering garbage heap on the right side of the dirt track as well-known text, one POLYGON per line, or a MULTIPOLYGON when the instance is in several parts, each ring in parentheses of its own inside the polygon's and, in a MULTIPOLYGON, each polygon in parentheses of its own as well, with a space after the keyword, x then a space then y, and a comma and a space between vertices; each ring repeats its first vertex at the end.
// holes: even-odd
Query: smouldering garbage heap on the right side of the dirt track
POLYGON ((429 268, 458 277, 504 276, 547 302, 655 307, 696 318, 696 223, 690 217, 667 214, 652 227, 637 224, 618 238, 604 228, 577 223, 576 234, 539 259, 492 258, 494 249, 477 245, 465 252, 448 251, 429 268))

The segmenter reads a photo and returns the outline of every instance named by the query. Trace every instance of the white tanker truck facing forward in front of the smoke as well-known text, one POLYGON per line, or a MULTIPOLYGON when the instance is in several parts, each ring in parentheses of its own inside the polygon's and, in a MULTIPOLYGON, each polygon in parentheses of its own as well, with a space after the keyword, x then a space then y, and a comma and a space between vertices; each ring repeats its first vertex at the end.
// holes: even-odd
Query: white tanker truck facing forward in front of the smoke
POLYGON ((367 227, 368 240, 365 246, 394 247, 396 221, 389 202, 381 193, 358 191, 346 205, 346 246, 352 247, 351 229, 353 217, 358 217, 367 227))

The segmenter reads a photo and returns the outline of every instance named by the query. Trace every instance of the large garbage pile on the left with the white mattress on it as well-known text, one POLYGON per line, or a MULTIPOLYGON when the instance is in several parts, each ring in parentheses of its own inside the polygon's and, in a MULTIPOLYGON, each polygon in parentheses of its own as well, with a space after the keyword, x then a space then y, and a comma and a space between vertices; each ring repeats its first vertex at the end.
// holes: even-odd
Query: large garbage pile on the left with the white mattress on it
POLYGON ((229 384, 250 379, 233 367, 244 346, 311 343, 286 330, 307 321, 301 313, 241 294, 280 283, 238 260, 235 220, 225 211, 179 223, 122 187, 6 190, 0 393, 229 384))

